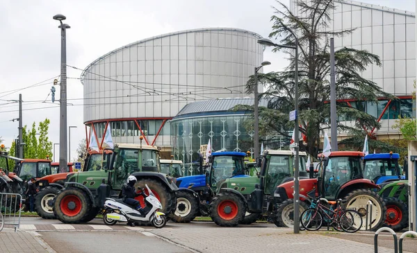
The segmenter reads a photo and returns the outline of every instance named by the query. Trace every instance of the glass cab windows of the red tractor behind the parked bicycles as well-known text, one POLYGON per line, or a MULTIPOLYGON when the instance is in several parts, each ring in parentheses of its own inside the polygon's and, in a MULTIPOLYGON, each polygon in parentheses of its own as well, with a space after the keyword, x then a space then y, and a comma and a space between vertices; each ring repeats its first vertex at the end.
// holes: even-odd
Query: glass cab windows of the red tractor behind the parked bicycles
POLYGON ((325 170, 320 171, 325 183, 325 198, 334 200, 343 184, 362 177, 361 170, 361 157, 329 157, 325 170))

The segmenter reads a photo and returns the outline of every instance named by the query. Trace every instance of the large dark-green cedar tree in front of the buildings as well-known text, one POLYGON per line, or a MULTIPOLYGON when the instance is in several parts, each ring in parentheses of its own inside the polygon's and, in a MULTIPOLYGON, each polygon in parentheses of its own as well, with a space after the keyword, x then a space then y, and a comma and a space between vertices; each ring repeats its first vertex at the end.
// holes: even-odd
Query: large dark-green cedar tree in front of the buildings
MULTIPOLYGON (((272 33, 270 38, 280 39, 281 44, 295 46, 294 34, 298 36, 298 85, 299 85, 299 119, 300 132, 306 134, 306 146, 300 143, 300 150, 306 150, 313 157, 318 155, 320 134, 330 128, 330 54, 329 38, 343 37, 352 30, 329 32, 325 28, 330 24, 330 13, 334 10, 333 0, 297 1, 298 9, 303 17, 296 17, 280 1, 281 9, 274 8, 271 17, 272 33)), ((279 47, 274 51, 283 50, 279 47)), ((294 122, 288 122, 288 114, 294 110, 295 94, 295 55, 291 49, 284 49, 290 60, 285 71, 259 73, 259 84, 265 87, 261 98, 269 101, 268 108, 259 110, 260 135, 276 135, 292 132, 294 122)), ((378 55, 365 50, 342 48, 335 51, 336 99, 353 98, 359 101, 375 101, 378 97, 393 98, 386 94, 372 80, 361 77, 361 71, 370 65, 381 66, 378 55)), ((254 90, 254 77, 247 82, 247 92, 254 90)), ((234 110, 243 109, 236 107, 234 110)), ((246 109, 251 109, 247 107, 246 109)), ((351 120, 354 125, 338 123, 338 130, 351 132, 358 129, 379 129, 380 124, 375 117, 366 112, 350 107, 347 103, 338 103, 338 116, 351 120)), ((252 119, 245 123, 253 128, 252 119)), ((363 140, 362 140, 363 141, 363 140)))

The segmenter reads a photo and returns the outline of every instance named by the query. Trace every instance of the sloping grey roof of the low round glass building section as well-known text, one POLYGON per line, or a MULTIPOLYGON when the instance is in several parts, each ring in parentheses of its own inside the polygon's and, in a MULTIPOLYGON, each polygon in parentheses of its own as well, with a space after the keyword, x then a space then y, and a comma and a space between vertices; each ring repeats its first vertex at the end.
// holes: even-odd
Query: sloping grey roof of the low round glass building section
MULTIPOLYGON (((192 116, 189 114, 207 114, 214 112, 227 112, 236 105, 254 105, 254 98, 219 98, 206 101, 197 101, 184 106, 181 111, 174 117, 183 118, 192 116)), ((268 106, 268 100, 261 99, 259 106, 268 106)))

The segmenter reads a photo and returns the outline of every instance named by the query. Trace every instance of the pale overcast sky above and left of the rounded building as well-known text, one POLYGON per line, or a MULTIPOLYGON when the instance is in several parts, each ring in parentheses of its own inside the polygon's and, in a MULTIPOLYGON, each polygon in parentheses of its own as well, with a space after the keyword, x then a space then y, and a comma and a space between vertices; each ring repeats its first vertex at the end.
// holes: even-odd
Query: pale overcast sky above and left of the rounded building
MULTIPOLYGON (((283 0, 288 5, 289 0, 283 0)), ((414 0, 363 0, 365 3, 415 11, 414 0)), ((270 33, 274 0, 2 0, 0 1, 0 137, 6 146, 18 134, 18 105, 10 100, 23 98, 23 123, 31 125, 51 119, 49 137, 59 143, 59 104, 48 96, 51 78, 60 73, 60 30, 57 13, 67 17, 67 64, 84 69, 90 62, 120 46, 147 37, 204 27, 232 27, 260 35, 270 33), (44 80, 49 80, 44 82, 44 80), (40 85, 35 85, 37 83, 40 85), (23 89, 28 86, 33 86, 23 89), (22 89, 22 90, 17 90, 22 89), (47 103, 42 103, 45 101, 47 103), (35 101, 35 102, 31 102, 35 101), (40 109, 42 108, 43 109, 40 109)), ((281 55, 265 51, 272 65, 264 71, 285 66, 281 55)), ((72 129, 72 157, 85 138, 81 71, 67 69, 68 125, 72 129), (73 79, 74 78, 74 79, 73 79), (77 99, 78 98, 78 99, 77 99)), ((59 98, 59 88, 56 91, 59 98)), ((56 156, 58 157, 58 146, 56 156)))

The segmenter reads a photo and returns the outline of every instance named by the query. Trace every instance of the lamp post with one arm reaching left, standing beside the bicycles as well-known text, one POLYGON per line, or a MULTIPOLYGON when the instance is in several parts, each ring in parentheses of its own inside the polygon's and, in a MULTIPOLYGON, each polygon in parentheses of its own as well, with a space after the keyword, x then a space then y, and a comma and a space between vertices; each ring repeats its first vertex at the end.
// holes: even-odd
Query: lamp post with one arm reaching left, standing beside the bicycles
MULTIPOLYGON (((291 31, 290 31, 291 32, 291 31)), ((292 33, 292 32, 291 32, 292 33)), ((294 162, 294 234, 300 233, 300 223, 298 220, 300 220, 300 159, 299 159, 299 142, 300 142, 300 134, 298 133, 298 39, 297 36, 295 36, 294 33, 292 33, 295 37, 295 46, 289 46, 289 45, 279 45, 272 42, 272 40, 269 40, 267 38, 261 38, 258 40, 258 43, 263 46, 276 46, 281 47, 285 49, 294 49, 295 50, 295 73, 294 73, 294 85, 295 85, 295 91, 294 91, 294 107, 295 107, 295 128, 294 128, 294 136, 295 136, 295 162, 294 162)))

